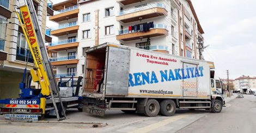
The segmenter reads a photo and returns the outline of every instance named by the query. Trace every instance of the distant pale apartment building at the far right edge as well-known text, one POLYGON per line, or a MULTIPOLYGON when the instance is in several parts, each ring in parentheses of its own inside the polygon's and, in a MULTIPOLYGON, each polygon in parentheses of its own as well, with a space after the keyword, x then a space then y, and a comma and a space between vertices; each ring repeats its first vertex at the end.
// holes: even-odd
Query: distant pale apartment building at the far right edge
POLYGON ((235 89, 256 89, 256 77, 242 75, 235 79, 235 89))

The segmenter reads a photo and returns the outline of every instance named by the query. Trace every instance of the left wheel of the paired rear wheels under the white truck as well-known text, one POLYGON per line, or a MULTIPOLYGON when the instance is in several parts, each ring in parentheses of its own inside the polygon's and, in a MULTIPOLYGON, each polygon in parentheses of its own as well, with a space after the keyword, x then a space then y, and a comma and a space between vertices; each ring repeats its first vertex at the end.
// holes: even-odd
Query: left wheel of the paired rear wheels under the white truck
POLYGON ((149 117, 155 117, 159 114, 159 111, 159 102, 157 102, 156 99, 149 99, 145 106, 144 114, 149 117))

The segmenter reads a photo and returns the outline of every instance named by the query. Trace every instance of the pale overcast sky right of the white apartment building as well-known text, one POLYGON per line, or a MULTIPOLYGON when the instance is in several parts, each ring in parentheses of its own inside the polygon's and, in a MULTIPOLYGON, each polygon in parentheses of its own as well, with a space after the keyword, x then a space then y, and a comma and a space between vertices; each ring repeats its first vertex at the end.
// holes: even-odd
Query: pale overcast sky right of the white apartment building
MULTIPOLYGON (((52 0, 59 3, 63 0, 52 0)), ((221 78, 256 76, 256 1, 191 0, 205 32, 203 55, 221 78)), ((47 25, 56 25, 47 21, 47 25)))

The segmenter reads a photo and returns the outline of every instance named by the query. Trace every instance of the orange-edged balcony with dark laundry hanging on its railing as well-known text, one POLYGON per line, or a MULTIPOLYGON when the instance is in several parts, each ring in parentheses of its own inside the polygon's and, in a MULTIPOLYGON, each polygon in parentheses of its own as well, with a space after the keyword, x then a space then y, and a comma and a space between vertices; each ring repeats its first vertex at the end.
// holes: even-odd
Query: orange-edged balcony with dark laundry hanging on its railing
POLYGON ((119 35, 117 35, 117 40, 132 41, 156 36, 168 36, 167 26, 164 24, 155 24, 154 28, 147 32, 129 32, 128 29, 120 30, 119 35))

